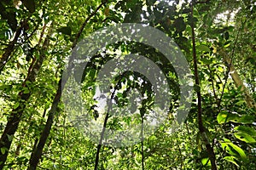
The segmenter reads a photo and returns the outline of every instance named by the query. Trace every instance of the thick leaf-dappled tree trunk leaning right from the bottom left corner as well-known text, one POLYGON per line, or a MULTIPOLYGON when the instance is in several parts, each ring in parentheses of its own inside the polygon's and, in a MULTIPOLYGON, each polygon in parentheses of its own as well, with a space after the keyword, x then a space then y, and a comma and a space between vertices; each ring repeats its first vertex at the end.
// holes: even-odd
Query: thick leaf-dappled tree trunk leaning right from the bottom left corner
MULTIPOLYGON (((42 34, 44 34, 44 30, 42 31, 42 34)), ((40 41, 38 42, 38 44, 39 43, 40 41)), ((22 83, 23 89, 28 88, 26 85, 26 82, 35 82, 35 79, 38 75, 38 71, 40 70, 43 64, 43 61, 45 58, 44 50, 48 47, 48 43, 49 43, 49 38, 47 37, 44 40, 43 51, 40 54, 39 58, 36 59, 36 57, 34 57, 34 59, 32 60, 32 64, 30 65, 27 73, 27 77, 22 83)), ((8 122, 6 124, 6 127, 4 128, 2 137, 0 139, 0 148, 3 148, 5 150, 4 152, 0 152, 0 163, 1 163, 0 169, 3 169, 4 163, 7 160, 7 156, 9 154, 9 148, 12 144, 15 132, 19 127, 19 123, 22 118, 23 111, 26 108, 26 102, 30 98, 31 93, 30 92, 25 93, 24 90, 21 90, 18 95, 20 96, 20 100, 15 104, 13 110, 10 112, 8 122)))

